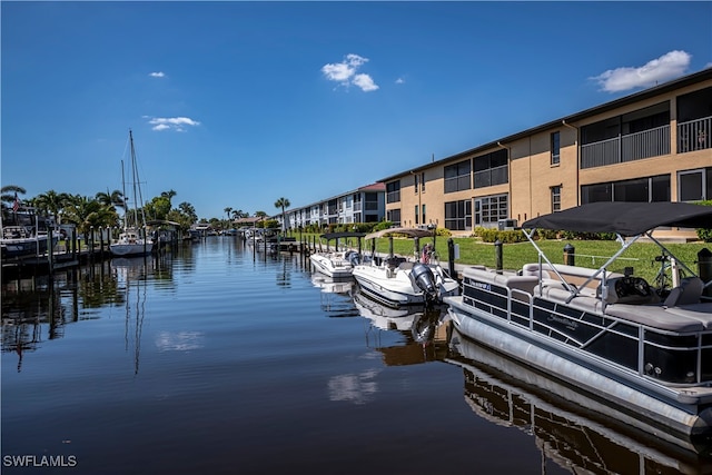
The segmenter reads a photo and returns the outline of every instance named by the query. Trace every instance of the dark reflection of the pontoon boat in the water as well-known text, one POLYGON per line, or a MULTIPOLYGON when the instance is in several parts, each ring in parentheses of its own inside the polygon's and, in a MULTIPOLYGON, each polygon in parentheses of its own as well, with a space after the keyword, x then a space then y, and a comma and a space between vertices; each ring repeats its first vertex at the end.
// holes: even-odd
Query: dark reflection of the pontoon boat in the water
MULTIPOLYGON (((534 436, 542 457, 572 473, 706 474, 709 445, 633 427, 631 416, 452 330, 446 363, 461 366, 465 402, 493 424, 534 436)), ((544 463, 542 464, 542 467, 544 463)))

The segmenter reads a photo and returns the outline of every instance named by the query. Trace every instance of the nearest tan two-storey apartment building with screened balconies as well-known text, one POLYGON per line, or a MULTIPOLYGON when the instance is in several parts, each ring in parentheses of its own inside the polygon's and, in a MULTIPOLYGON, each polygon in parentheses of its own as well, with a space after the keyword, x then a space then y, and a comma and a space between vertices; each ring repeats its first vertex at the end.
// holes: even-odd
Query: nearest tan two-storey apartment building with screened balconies
POLYGON ((386 219, 469 235, 593 201, 712 199, 711 135, 712 68, 383 178, 386 219))

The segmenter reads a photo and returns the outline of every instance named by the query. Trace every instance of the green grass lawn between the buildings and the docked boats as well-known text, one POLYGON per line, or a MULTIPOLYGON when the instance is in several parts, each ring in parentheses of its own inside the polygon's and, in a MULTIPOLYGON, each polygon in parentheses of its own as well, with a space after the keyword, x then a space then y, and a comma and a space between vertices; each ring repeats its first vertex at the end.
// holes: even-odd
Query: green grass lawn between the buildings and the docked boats
MULTIPOLYGON (((304 239, 307 239, 306 236, 308 236, 308 243, 312 244, 315 235, 305 235, 304 239)), ((436 238, 437 255, 445 266, 447 265, 447 237, 436 238)), ((421 247, 426 243, 432 243, 432 240, 429 238, 421 239, 421 247)), ((493 244, 485 244, 475 238, 453 238, 453 243, 459 247, 459 258, 455 263, 462 265, 479 264, 491 268, 496 266, 493 244)), ((575 248, 575 264, 596 269, 621 249, 620 243, 611 240, 540 240, 536 244, 554 264, 564 263, 564 246, 571 244, 575 248)), ((323 247, 325 245, 326 243, 323 241, 323 247)), ((330 245, 333 247, 334 241, 330 245)), ((357 240, 349 239, 348 245, 356 247, 357 240)), ((370 243, 362 243, 362 247, 364 251, 370 251, 370 243)), ((404 257, 414 255, 413 239, 395 238, 393 247, 394 254, 404 257)), ((710 243, 665 244, 665 247, 695 273, 698 271, 698 253, 703 248, 712 250, 710 243)), ((376 251, 388 253, 388 239, 378 239, 376 251)), ((609 267, 609 270, 622 274, 625 267, 633 267, 635 276, 652 283, 660 270, 660 264, 654 261, 655 256, 660 254, 660 248, 654 243, 635 243, 609 267)), ((503 267, 507 270, 517 270, 527 263, 538 260, 536 249, 528 241, 503 245, 502 259, 503 267)))

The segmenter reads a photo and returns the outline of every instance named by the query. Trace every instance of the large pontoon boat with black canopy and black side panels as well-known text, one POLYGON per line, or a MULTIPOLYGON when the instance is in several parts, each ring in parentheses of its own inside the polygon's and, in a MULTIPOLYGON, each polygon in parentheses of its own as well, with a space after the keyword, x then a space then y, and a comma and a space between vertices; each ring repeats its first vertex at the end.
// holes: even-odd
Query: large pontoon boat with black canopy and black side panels
POLYGON ((712 436, 712 300, 678 259, 670 290, 607 269, 659 227, 710 228, 712 207, 684 202, 594 202, 530 219, 538 261, 517 273, 473 266, 462 295, 446 297, 464 336, 615 405, 676 437, 712 436), (600 268, 552 264, 536 229, 614 232, 621 249, 600 268))

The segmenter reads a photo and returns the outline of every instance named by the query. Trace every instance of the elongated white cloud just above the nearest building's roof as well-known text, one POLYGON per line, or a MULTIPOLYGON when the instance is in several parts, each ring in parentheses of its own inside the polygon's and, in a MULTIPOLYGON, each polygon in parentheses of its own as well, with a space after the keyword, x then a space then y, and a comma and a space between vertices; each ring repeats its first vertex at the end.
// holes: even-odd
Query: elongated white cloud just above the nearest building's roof
POLYGON ((670 51, 641 67, 609 69, 591 79, 606 92, 655 86, 684 75, 691 58, 685 51, 670 51))

